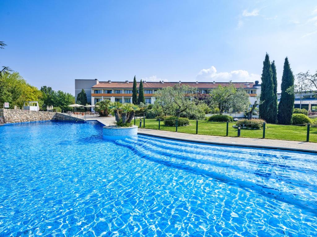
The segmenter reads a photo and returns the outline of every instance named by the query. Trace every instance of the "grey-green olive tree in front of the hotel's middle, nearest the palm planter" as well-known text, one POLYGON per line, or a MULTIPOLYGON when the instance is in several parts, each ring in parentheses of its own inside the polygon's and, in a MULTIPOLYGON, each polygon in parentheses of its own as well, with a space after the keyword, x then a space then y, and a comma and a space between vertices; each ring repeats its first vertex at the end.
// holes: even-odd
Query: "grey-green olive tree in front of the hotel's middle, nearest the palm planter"
POLYGON ((176 115, 186 112, 195 106, 195 102, 191 101, 189 92, 196 91, 196 88, 176 84, 173 87, 167 87, 157 92, 156 104, 162 107, 165 114, 176 115))

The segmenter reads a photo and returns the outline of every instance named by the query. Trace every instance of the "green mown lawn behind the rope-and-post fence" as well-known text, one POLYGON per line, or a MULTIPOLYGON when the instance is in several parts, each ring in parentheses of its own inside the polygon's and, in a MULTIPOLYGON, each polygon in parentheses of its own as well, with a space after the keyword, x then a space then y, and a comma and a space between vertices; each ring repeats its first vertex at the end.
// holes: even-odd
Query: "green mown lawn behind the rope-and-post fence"
MULTIPOLYGON (((136 120, 136 125, 139 125, 140 120, 136 120)), ((237 136, 237 129, 232 127, 229 123, 228 135, 230 137, 237 136)), ((142 119, 143 128, 143 119, 142 119)), ((145 119, 145 128, 159 129, 159 121, 156 119, 145 119)), ((160 129, 165 131, 175 132, 175 127, 165 126, 161 121, 160 129)), ((189 126, 178 127, 178 132, 196 134, 196 121, 190 122, 189 126)), ((226 136, 225 122, 208 122, 205 120, 198 121, 198 134, 226 136)), ((265 127, 265 138, 291 140, 291 141, 305 141, 306 142, 307 127, 294 125, 271 125, 267 124, 265 127)), ((263 130, 248 130, 241 129, 241 137, 262 138, 263 130)), ((310 127, 309 142, 317 143, 317 128, 310 127)))

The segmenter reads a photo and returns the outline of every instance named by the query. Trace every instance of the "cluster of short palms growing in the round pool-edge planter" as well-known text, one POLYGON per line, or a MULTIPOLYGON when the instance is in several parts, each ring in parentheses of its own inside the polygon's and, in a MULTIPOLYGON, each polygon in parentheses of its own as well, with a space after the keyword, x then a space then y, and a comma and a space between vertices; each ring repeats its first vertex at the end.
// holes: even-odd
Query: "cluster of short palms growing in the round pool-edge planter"
POLYGON ((139 109, 139 106, 130 103, 113 102, 110 104, 109 109, 115 116, 117 126, 130 127, 135 111, 139 109))

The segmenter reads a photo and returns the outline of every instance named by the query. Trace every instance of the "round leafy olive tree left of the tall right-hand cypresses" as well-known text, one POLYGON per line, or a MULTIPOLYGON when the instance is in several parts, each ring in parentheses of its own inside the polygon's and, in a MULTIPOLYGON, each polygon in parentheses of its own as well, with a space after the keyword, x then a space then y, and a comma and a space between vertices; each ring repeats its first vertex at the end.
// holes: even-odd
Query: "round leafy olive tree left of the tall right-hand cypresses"
POLYGON ((219 113, 225 110, 234 109, 245 111, 249 105, 249 95, 242 89, 237 89, 232 83, 228 86, 218 85, 210 92, 211 105, 217 106, 219 113))

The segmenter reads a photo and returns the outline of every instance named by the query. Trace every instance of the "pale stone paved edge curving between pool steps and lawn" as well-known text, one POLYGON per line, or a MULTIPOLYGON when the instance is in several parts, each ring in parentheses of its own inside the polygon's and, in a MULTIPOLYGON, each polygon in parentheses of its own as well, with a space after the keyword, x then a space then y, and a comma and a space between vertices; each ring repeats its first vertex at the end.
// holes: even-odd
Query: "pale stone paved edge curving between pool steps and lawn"
POLYGON ((301 141, 246 138, 246 137, 222 137, 222 136, 199 135, 199 134, 197 135, 197 134, 190 134, 190 133, 179 133, 179 132, 171 132, 171 131, 155 130, 155 129, 142 129, 142 128, 141 129, 138 128, 138 134, 185 141, 185 142, 317 153, 317 143, 301 142, 301 141), (221 141, 217 141, 217 140, 221 140, 221 141), (280 143, 280 146, 273 145, 276 143, 280 143), (305 148, 295 147, 300 145, 305 145, 305 148))

